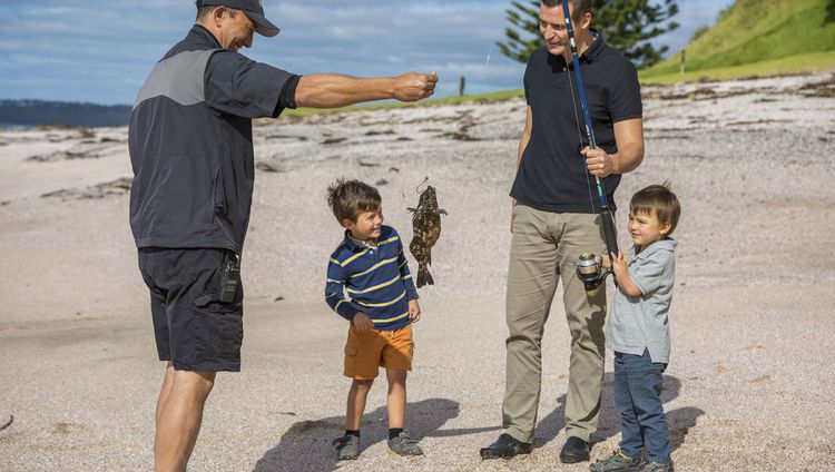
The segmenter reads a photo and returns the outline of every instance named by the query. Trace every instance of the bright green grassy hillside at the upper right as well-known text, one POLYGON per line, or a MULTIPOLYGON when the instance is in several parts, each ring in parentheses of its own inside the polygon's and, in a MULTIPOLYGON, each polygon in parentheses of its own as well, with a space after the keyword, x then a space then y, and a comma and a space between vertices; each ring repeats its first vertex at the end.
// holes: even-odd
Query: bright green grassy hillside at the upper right
MULTIPOLYGON (((778 73, 831 69, 835 63, 833 3, 736 0, 709 31, 687 46, 686 70, 737 68, 743 75, 758 75, 759 65, 776 68, 778 73)), ((679 61, 677 52, 645 70, 641 79, 677 75, 679 61)))

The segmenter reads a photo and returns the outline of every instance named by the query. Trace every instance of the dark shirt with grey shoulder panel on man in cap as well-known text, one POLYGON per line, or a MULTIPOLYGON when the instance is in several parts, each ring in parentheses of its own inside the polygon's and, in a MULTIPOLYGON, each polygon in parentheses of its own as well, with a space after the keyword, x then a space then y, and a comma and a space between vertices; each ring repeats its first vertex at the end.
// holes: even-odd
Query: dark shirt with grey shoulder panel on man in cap
POLYGON ((240 253, 255 178, 252 118, 294 107, 297 82, 222 49, 199 26, 157 62, 128 128, 137 247, 240 253))

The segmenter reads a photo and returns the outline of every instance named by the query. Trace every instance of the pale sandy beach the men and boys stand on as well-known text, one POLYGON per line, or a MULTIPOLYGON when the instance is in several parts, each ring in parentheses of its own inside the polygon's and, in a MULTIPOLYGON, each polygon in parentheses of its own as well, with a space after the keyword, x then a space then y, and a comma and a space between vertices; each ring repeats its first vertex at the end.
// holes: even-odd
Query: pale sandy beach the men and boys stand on
MULTIPOLYGON (((633 191, 670 180, 682 205, 664 393, 676 468, 827 470, 835 76, 642 92, 646 158, 623 177, 617 216, 625 246, 633 191)), ((189 470, 588 470, 558 458, 569 355, 559 295, 536 450, 479 456, 501 431, 508 191, 524 114, 517 98, 256 124, 243 371, 217 376, 189 470), (385 453, 384 377, 369 399, 360 459, 340 463, 331 446, 350 385, 347 325, 323 301, 341 239, 325 188, 342 176, 377 186, 406 242, 405 208, 425 177, 449 213, 433 249, 436 285, 420 291, 409 381, 407 429, 423 439, 422 458, 385 453)), ((128 227, 130 176, 127 128, 0 130, 0 427, 10 422, 0 471, 151 469, 164 365, 128 227)), ((620 437, 611 387, 607 352, 592 460, 620 437)))

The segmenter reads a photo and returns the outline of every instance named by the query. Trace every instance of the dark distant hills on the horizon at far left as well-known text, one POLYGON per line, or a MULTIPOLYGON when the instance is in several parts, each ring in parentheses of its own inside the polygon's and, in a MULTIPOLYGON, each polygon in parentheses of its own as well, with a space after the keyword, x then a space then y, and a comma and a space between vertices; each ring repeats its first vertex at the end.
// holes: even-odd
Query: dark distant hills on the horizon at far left
POLYGON ((126 105, 104 106, 43 100, 0 99, 0 124, 2 126, 125 126, 130 118, 126 105))

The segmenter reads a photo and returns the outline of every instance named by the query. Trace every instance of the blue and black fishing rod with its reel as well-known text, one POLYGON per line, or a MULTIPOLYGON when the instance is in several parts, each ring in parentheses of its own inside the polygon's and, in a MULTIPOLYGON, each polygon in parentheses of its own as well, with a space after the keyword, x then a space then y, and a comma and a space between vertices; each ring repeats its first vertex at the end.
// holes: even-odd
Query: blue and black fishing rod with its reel
MULTIPOLYGON (((580 95, 580 108, 582 109, 582 119, 586 125, 586 136, 589 139, 589 147, 591 147, 591 149, 596 149, 597 141, 595 140, 595 129, 591 127, 589 104, 586 99, 586 87, 582 82, 582 72, 580 71, 580 57, 577 52, 577 41, 574 40, 574 29, 571 26, 571 14, 568 9, 568 0, 562 0, 562 13, 566 17, 568 45, 571 49, 571 61, 573 62, 574 76, 577 77, 577 90, 579 90, 580 95)), ((573 91, 571 94, 573 95, 573 91)), ((606 198, 603 181, 600 179, 600 177, 595 176, 595 184, 597 186, 597 195, 600 200, 600 217, 603 227, 603 240, 606 243, 606 250, 609 254, 617 254, 618 237, 617 233, 615 232, 615 218, 612 217, 611 208, 609 208, 609 201, 606 198)), ((587 291, 596 289, 598 286, 600 286, 600 284, 603 283, 606 276, 609 275, 610 271, 602 272, 601 266, 602 260, 596 260, 593 254, 583 253, 582 255, 580 255, 580 259, 574 265, 574 267, 577 269, 578 277, 580 277, 582 283, 586 285, 587 291)))

